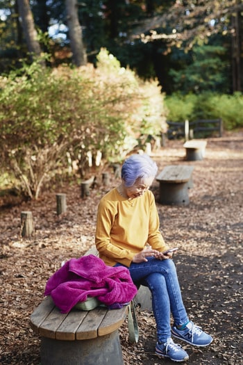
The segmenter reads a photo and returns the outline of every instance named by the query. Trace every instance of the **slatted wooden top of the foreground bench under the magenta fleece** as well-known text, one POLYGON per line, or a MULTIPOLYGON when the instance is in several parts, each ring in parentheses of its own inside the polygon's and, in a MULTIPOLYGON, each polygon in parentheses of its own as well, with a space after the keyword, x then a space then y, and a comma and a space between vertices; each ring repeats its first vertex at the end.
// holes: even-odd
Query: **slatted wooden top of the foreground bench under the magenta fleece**
POLYGON ((127 306, 97 307, 91 311, 72 309, 62 314, 51 297, 44 298, 31 314, 31 328, 40 336, 65 341, 95 339, 117 330, 124 323, 127 306))

